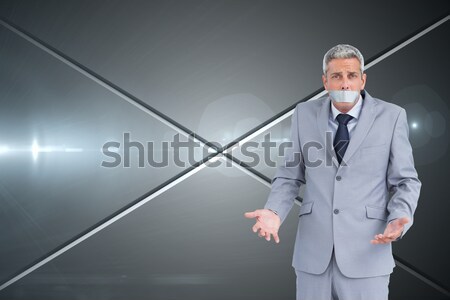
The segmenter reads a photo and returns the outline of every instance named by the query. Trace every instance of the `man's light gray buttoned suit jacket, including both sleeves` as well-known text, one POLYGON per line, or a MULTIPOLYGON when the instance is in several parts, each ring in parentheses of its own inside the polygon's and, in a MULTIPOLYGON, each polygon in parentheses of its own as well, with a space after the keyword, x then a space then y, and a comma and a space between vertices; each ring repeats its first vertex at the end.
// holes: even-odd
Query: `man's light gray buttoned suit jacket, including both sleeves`
POLYGON ((299 103, 292 116, 293 147, 278 168, 265 208, 283 222, 305 185, 292 265, 325 271, 334 247, 341 272, 351 278, 392 273, 392 246, 370 240, 391 220, 413 223, 421 182, 414 168, 403 108, 362 91, 358 123, 338 165, 328 131, 330 98, 299 103), (299 162, 298 160, 301 159, 299 162), (295 162, 294 164, 292 162, 295 162))

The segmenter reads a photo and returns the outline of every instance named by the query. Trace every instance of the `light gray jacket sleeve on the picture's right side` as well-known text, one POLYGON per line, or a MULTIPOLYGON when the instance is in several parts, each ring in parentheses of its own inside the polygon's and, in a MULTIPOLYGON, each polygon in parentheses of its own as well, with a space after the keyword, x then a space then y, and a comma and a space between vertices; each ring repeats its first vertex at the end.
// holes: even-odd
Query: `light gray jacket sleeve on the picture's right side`
POLYGON ((404 225, 400 236, 402 238, 413 224, 422 185, 414 168, 408 121, 403 108, 398 115, 392 136, 387 185, 390 193, 387 205, 388 222, 401 217, 407 217, 410 220, 404 225))

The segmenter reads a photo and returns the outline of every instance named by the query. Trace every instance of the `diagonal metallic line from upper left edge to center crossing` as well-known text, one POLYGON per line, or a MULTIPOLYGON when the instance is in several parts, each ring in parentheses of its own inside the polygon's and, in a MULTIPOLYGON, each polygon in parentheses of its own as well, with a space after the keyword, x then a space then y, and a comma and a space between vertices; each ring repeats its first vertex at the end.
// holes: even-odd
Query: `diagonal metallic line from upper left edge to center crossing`
POLYGON ((27 32, 25 29, 11 23, 10 21, 0 18, 0 25, 3 25, 3 27, 7 28, 8 30, 12 31, 13 33, 17 34, 24 40, 30 42, 37 48, 45 51, 46 53, 50 54, 54 58, 58 59, 59 61, 63 62, 67 66, 71 67, 72 69, 78 71, 85 77, 91 79, 98 85, 102 86, 103 88, 109 90, 110 92, 116 94, 120 98, 124 99, 128 103, 132 104, 136 108, 140 109, 141 111, 151 115, 153 118, 157 119, 158 121, 164 123, 168 127, 172 128, 173 130, 187 136, 188 138, 193 139, 196 142, 199 142, 201 146, 211 147, 214 150, 217 149, 217 146, 215 146, 213 143, 209 143, 205 138, 199 136, 195 132, 191 131, 190 129, 184 127, 177 121, 173 120, 169 116, 166 116, 165 114, 159 112, 152 106, 150 106, 148 103, 138 99, 136 96, 133 96, 129 92, 125 91, 124 89, 120 88, 119 86, 115 85, 111 81, 107 80, 106 78, 100 76, 99 74, 95 73, 91 69, 85 67, 84 65, 80 64, 76 60, 70 58, 69 56, 65 55, 58 49, 50 46, 43 40, 39 39, 38 37, 34 36, 30 32, 27 32))

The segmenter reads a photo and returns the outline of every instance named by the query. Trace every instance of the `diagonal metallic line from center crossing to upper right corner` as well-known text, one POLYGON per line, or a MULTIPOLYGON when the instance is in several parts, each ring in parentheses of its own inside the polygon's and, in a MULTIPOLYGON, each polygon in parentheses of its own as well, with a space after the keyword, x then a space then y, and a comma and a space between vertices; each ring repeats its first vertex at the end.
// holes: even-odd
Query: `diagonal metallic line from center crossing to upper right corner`
MULTIPOLYGON (((448 15, 448 13, 446 13, 444 16, 441 16, 438 19, 430 22, 429 24, 421 27, 420 29, 416 30, 412 34, 410 34, 407 37, 403 38, 399 42, 395 43, 394 45, 390 46, 389 48, 383 50, 382 52, 380 52, 377 55, 375 55, 375 56, 371 57, 370 59, 368 59, 367 60, 367 64, 365 65, 364 69, 367 70, 367 69, 373 67, 377 63, 379 63, 382 60, 386 59, 387 57, 391 56, 395 52, 403 49, 404 47, 406 47, 410 43, 414 42, 418 38, 422 37, 423 35, 427 34, 431 30, 433 30, 433 29, 439 27, 440 25, 444 24, 446 21, 449 20, 449 18, 450 17, 448 15)), ((222 149, 220 149, 219 151, 220 152, 222 152, 222 151, 230 152, 230 150, 228 150, 229 148, 233 148, 233 147, 239 146, 239 144, 242 144, 244 142, 247 142, 247 141, 251 140, 253 137, 263 133, 264 131, 270 129, 271 127, 277 125, 281 121, 283 121, 286 118, 290 117, 293 114, 294 109, 297 106, 297 104, 299 104, 301 102, 306 102, 306 101, 318 99, 318 98, 322 97, 323 95, 325 95, 326 93, 327 92, 324 90, 323 87, 317 89, 315 92, 313 92, 313 93, 309 94, 308 96, 298 100, 297 102, 295 102, 291 106, 287 107, 286 109, 284 109, 280 113, 276 114, 272 118, 270 118, 267 121, 261 123, 259 126, 253 128, 252 130, 248 131, 247 133, 242 134, 240 137, 235 138, 233 141, 229 142, 227 145, 222 147, 222 149)))

